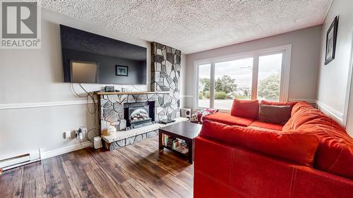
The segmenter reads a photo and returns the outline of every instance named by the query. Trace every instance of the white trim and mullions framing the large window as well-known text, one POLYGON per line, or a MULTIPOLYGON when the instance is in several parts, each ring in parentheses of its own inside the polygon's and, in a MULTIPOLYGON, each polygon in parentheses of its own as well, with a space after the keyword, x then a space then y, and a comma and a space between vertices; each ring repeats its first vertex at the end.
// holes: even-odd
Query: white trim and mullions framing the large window
MULTIPOLYGON (((231 54, 227 56, 218 56, 213 58, 205 58, 202 60, 194 61, 193 63, 193 109, 203 109, 198 107, 198 66, 204 64, 210 64, 210 78, 211 85, 210 89, 214 89, 215 82, 215 63, 217 62, 225 62, 225 61, 233 61, 242 58, 252 58, 255 56, 253 60, 253 89, 251 89, 251 99, 255 99, 257 96, 257 80, 258 80, 258 56, 265 56, 269 54, 276 54, 278 52, 282 52, 282 70, 281 70, 281 85, 280 85, 280 101, 288 101, 289 94, 289 75, 290 75, 290 61, 292 55, 292 44, 285 44, 278 47, 270 47, 266 49, 259 49, 255 51, 247 51, 239 54, 231 54), (256 82, 254 82, 256 81, 256 82)), ((210 92, 210 108, 213 108, 214 105, 214 92, 210 92)), ((229 112, 229 110, 222 110, 225 112, 229 112)))

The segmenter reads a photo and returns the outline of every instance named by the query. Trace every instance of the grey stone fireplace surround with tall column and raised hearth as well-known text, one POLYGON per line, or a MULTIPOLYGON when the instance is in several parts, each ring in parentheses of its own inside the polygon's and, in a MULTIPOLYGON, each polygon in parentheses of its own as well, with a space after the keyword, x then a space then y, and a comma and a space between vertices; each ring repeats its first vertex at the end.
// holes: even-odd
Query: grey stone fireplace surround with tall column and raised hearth
MULTIPOLYGON (((101 93, 100 132, 107 134, 109 126, 123 131, 126 128, 124 104, 155 101, 155 121, 177 118, 180 112, 181 51, 156 42, 151 43, 151 92, 101 93)), ((157 135, 157 130, 109 142, 107 149, 116 149, 157 135)), ((104 138, 103 138, 104 139, 104 138)))

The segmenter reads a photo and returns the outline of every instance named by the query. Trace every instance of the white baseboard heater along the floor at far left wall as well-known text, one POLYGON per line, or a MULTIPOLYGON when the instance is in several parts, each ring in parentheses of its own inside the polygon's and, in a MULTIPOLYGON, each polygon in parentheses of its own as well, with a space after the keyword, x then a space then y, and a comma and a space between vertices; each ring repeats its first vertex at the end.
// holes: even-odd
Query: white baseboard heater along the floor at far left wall
POLYGON ((39 160, 40 160, 40 149, 26 154, 20 154, 18 156, 11 156, 7 159, 1 159, 0 168, 5 171, 10 168, 15 168, 17 166, 22 166, 27 163, 32 163, 39 160))

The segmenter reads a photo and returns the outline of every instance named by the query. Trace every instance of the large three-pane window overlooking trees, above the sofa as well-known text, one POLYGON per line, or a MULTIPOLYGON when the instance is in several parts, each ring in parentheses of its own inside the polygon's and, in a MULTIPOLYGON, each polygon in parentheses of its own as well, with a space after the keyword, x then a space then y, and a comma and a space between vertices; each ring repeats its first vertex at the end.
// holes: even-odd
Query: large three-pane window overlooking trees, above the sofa
POLYGON ((195 106, 229 111, 234 99, 287 101, 291 45, 196 61, 195 106))

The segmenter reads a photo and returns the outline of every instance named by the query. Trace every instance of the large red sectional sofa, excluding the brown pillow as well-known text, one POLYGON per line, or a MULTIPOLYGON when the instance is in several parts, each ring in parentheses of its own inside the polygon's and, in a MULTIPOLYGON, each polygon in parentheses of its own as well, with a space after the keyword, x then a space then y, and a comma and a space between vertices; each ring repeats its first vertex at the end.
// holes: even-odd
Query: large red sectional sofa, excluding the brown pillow
POLYGON ((352 137, 306 102, 262 103, 291 106, 287 123, 259 121, 258 101, 205 117, 194 197, 352 198, 352 137))

